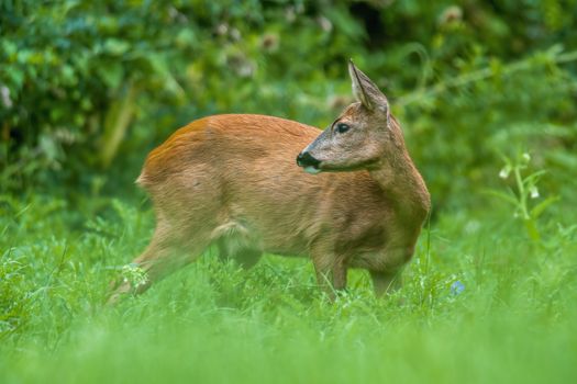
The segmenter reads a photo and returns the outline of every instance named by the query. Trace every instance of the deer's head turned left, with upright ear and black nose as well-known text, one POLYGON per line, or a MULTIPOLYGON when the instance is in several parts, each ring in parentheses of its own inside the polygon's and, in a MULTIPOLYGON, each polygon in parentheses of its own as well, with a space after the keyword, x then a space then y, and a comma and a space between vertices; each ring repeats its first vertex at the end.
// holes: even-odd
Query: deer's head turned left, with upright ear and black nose
POLYGON ((348 74, 357 102, 299 154, 297 163, 309 173, 379 168, 404 148, 387 97, 352 61, 348 74))

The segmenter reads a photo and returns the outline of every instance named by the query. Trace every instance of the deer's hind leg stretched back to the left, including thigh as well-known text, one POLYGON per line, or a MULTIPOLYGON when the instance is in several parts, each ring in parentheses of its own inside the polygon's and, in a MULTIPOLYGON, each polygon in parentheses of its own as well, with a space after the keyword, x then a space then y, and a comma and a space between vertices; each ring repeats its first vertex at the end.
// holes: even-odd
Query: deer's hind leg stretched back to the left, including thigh
POLYGON ((112 294, 112 302, 122 293, 142 293, 155 281, 195 261, 213 240, 214 228, 225 221, 222 185, 206 161, 192 161, 186 171, 170 163, 166 167, 162 180, 143 171, 141 181, 156 211, 153 239, 133 261, 146 272, 146 282, 132 286, 130 281, 122 281, 112 294))

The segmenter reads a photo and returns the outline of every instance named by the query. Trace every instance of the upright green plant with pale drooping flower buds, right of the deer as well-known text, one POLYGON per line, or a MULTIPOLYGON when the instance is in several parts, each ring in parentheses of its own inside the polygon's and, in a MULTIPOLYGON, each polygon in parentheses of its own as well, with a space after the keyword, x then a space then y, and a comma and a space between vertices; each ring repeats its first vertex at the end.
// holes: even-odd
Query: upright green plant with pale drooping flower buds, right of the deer
POLYGON ((539 241, 541 234, 537 221, 559 197, 552 195, 542 199, 537 184, 546 171, 539 170, 528 173, 531 162, 531 156, 528 153, 519 154, 514 159, 503 156, 503 161, 504 167, 499 171, 499 178, 508 180, 512 177, 513 185, 508 187, 507 192, 491 190, 489 193, 508 203, 513 208, 513 216, 523 222, 529 237, 539 241))

